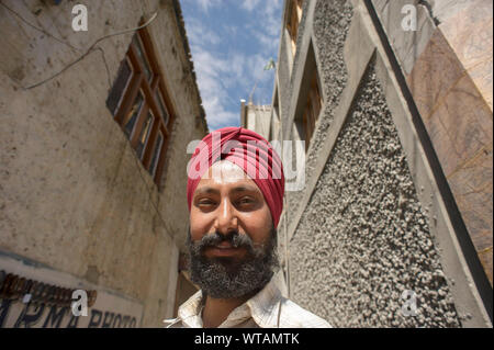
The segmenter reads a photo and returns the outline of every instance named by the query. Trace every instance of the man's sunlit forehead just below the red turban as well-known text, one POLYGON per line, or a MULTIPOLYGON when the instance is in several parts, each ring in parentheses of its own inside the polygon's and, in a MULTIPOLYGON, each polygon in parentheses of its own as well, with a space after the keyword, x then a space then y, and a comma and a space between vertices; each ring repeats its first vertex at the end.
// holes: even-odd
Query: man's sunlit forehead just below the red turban
POLYGON ((215 162, 206 172, 204 172, 198 183, 197 190, 205 185, 236 187, 246 184, 260 192, 256 182, 254 182, 240 167, 228 160, 221 160, 215 162))

